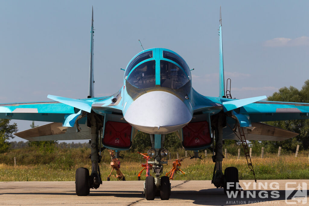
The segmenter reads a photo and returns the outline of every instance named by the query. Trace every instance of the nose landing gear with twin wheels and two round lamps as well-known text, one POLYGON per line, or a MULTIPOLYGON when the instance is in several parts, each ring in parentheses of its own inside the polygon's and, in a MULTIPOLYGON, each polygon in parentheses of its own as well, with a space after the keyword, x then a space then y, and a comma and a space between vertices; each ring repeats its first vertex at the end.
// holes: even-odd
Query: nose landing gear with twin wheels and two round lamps
POLYGON ((168 200, 171 195, 171 183, 167 176, 160 175, 163 172, 163 164, 167 164, 167 161, 163 161, 162 158, 167 156, 167 150, 163 149, 165 135, 150 134, 152 149, 148 150, 148 155, 154 158, 152 164, 154 176, 147 176, 144 184, 144 195, 146 200, 154 200, 155 196, 160 196, 161 200, 168 200))

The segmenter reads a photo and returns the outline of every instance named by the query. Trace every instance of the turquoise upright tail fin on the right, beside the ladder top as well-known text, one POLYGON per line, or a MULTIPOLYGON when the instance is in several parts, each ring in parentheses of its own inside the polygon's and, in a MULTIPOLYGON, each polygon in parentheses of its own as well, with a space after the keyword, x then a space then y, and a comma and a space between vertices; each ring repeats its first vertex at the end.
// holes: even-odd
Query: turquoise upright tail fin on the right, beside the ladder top
POLYGON ((224 86, 221 6, 220 6, 220 21, 219 22, 220 22, 220 26, 219 26, 219 97, 223 97, 225 96, 225 86, 224 86))

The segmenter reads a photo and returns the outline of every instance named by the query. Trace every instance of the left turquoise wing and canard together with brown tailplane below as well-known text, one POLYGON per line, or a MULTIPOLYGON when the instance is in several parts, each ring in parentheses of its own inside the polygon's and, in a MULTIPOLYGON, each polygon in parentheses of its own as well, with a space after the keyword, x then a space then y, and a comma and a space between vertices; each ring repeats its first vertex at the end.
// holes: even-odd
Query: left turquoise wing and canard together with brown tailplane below
POLYGON ((120 92, 112 96, 89 99, 49 95, 50 99, 55 101, 4 103, 0 104, 0 118, 52 122, 15 134, 29 141, 89 139, 90 130, 85 124, 86 118, 81 118, 85 116, 82 111, 91 112, 92 109, 99 114, 122 115, 119 94, 120 92), (80 132, 76 132, 76 121, 81 128, 80 132))

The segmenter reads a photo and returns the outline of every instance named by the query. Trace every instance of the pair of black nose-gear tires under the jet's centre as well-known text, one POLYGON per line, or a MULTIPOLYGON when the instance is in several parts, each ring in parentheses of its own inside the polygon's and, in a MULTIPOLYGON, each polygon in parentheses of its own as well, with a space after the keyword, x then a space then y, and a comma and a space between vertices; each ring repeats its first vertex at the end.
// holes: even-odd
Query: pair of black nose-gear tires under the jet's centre
POLYGON ((155 186, 155 178, 153 176, 146 177, 144 195, 146 200, 154 200, 155 196, 159 196, 161 200, 170 199, 171 195, 171 183, 170 179, 167 176, 162 176, 160 181, 159 191, 155 186))

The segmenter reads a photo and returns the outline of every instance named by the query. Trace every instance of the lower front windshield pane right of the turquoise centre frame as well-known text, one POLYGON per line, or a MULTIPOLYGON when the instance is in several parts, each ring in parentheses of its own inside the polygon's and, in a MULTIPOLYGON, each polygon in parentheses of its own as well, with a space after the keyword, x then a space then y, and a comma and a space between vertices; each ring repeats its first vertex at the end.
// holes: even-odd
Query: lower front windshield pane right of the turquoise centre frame
POLYGON ((171 89, 178 89, 189 81, 187 74, 182 69, 164 60, 160 61, 160 78, 160 85, 171 89))

